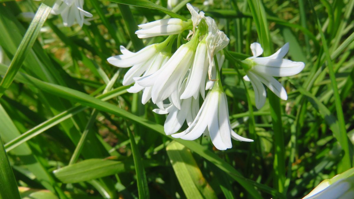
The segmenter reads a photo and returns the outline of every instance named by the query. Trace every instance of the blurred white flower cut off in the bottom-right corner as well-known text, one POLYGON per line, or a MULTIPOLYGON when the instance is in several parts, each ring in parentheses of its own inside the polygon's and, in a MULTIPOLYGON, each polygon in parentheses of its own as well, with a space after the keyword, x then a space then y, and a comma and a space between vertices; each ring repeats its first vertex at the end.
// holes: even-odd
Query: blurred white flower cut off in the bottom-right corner
POLYGON ((303 199, 341 198, 352 199, 354 196, 354 168, 331 179, 322 181, 303 199))

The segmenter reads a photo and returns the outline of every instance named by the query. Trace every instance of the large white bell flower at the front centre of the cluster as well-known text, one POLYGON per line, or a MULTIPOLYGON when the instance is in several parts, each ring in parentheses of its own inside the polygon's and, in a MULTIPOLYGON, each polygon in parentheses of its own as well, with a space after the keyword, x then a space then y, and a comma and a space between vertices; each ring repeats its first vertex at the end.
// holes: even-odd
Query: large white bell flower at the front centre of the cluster
POLYGON ((172 104, 181 109, 177 93, 181 88, 185 74, 192 66, 198 38, 194 37, 187 44, 181 45, 172 57, 154 74, 137 79, 137 84, 144 87, 152 86, 151 98, 153 103, 162 102, 171 97, 172 104))

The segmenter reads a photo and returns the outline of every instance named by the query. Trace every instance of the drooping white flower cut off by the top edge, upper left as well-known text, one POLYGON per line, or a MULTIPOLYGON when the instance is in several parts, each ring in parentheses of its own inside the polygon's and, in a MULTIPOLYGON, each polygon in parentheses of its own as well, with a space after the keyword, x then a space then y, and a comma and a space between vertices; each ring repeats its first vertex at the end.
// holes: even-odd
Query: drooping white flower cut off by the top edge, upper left
POLYGON ((61 15, 65 26, 70 27, 76 22, 82 27, 84 16, 92 17, 90 12, 83 10, 84 0, 57 0, 53 6, 52 14, 61 15))

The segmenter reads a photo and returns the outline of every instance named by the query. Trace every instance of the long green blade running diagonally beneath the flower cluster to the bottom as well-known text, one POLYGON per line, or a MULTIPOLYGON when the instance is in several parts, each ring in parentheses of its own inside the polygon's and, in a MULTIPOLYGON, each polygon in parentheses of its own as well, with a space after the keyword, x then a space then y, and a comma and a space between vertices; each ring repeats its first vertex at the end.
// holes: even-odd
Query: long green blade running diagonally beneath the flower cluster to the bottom
MULTIPOLYGON (((0 64, 0 74, 4 73, 4 69, 6 69, 6 66, 0 64)), ((166 136, 163 126, 155 124, 147 119, 141 118, 132 113, 129 113, 126 110, 120 109, 113 104, 103 102, 100 99, 91 97, 85 93, 69 89, 67 87, 46 83, 23 73, 18 73, 15 76, 15 80, 21 80, 22 82, 28 83, 31 86, 38 87, 42 91, 49 92, 53 95, 57 95, 63 98, 67 98, 69 100, 73 100, 85 106, 96 108, 103 112, 111 113, 122 118, 132 120, 140 125, 152 129, 153 131, 159 132, 161 135, 166 136)), ((168 137, 171 138, 170 136, 168 137)), ((243 177, 240 172, 238 172, 233 166, 226 163, 224 160, 219 158, 215 153, 211 152, 210 150, 205 150, 204 147, 202 147, 200 144, 181 139, 173 140, 182 143, 184 146, 187 146, 189 149, 198 153, 205 159, 211 161, 213 164, 219 167, 219 169, 227 172, 232 178, 238 181, 251 195, 253 195, 253 197, 261 197, 258 191, 256 191, 256 189, 254 188, 254 186, 257 186, 267 193, 271 193, 272 195, 276 195, 277 197, 282 198, 282 195, 274 189, 243 177)))

